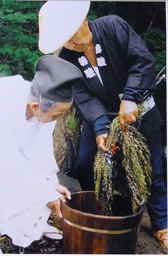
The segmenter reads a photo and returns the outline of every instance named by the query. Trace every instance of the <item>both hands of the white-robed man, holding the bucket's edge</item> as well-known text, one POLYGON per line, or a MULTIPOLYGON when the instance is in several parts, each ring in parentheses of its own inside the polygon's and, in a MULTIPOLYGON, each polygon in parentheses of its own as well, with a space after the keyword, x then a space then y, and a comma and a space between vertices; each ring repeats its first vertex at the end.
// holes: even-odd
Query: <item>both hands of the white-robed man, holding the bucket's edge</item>
POLYGON ((63 218, 62 216, 62 211, 61 211, 61 207, 60 207, 60 202, 66 202, 65 200, 65 196, 67 195, 68 199, 71 199, 71 192, 64 186, 60 185, 60 183, 58 183, 58 185, 56 185, 56 191, 58 191, 60 194, 62 194, 62 196, 55 201, 49 202, 47 203, 47 206, 57 215, 57 217, 59 218, 63 218))

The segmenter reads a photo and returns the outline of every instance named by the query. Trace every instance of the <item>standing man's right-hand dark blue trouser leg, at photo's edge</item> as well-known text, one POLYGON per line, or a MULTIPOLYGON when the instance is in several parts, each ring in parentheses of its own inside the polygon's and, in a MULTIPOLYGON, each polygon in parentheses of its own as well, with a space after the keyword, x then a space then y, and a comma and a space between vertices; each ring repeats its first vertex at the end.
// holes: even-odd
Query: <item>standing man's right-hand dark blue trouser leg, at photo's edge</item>
POLYGON ((146 139, 151 154, 152 183, 151 194, 147 200, 147 212, 154 231, 167 228, 167 191, 162 175, 161 130, 146 139))

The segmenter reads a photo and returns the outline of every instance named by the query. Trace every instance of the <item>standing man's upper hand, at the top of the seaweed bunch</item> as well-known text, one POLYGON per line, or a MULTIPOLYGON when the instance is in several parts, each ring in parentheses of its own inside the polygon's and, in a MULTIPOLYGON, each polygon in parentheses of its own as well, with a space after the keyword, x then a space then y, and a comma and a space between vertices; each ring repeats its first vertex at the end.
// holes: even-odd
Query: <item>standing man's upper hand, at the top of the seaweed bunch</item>
POLYGON ((121 101, 119 119, 122 131, 125 131, 125 122, 131 123, 136 122, 138 117, 138 107, 135 102, 132 101, 121 101))

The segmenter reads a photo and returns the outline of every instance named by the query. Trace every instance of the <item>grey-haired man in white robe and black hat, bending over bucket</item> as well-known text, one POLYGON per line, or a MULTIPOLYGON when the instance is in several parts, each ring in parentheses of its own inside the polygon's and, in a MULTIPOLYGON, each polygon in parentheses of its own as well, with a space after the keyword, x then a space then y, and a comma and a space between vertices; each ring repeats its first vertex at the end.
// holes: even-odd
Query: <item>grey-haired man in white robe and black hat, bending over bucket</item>
POLYGON ((71 199, 56 176, 52 133, 81 78, 76 66, 51 55, 39 59, 32 83, 21 75, 0 78, 0 231, 15 245, 27 247, 50 233, 62 239, 47 225, 51 211, 62 218, 64 196, 71 199))

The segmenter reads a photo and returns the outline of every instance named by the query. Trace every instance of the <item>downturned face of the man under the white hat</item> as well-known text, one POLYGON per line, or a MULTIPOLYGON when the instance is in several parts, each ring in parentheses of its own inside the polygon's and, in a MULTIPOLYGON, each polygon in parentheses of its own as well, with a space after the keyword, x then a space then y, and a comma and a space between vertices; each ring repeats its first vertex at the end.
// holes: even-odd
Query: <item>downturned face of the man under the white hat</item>
POLYGON ((85 51, 92 42, 92 33, 88 26, 87 18, 73 37, 65 43, 64 47, 73 51, 85 51))

